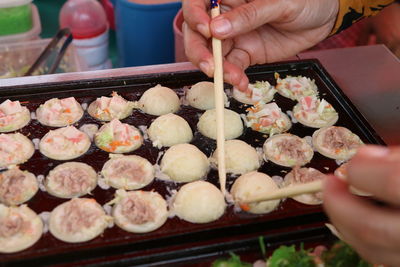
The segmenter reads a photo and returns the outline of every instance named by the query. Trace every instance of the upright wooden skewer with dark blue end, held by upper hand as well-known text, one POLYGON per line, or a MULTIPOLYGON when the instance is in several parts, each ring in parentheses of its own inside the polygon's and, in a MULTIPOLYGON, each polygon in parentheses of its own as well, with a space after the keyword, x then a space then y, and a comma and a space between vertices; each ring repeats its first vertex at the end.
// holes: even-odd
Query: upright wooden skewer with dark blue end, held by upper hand
MULTIPOLYGON (((220 15, 219 4, 211 1, 211 18, 220 15)), ((218 177, 222 194, 226 192, 226 170, 225 170, 225 129, 224 129, 224 78, 222 63, 221 40, 212 38, 212 49, 214 56, 214 96, 215 110, 217 116, 217 148, 218 148, 218 177)))

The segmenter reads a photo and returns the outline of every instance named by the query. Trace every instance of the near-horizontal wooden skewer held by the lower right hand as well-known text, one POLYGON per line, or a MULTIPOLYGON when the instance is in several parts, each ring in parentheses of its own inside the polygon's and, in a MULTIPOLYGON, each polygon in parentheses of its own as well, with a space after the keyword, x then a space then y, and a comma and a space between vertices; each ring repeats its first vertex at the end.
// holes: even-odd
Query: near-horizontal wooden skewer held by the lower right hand
POLYGON ((302 194, 310 194, 320 192, 322 190, 322 180, 312 181, 305 184, 296 184, 289 187, 283 187, 268 195, 252 196, 245 200, 240 200, 241 203, 253 203, 267 200, 282 199, 287 197, 298 196, 302 194))

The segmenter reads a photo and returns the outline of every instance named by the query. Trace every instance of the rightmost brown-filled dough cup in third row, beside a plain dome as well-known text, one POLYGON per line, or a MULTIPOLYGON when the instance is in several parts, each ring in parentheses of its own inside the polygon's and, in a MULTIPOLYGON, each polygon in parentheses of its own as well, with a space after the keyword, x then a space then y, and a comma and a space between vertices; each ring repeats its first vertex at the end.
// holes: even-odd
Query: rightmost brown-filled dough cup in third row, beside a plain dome
POLYGON ((114 188, 134 190, 145 187, 154 179, 154 167, 140 156, 113 155, 101 170, 106 183, 114 188))

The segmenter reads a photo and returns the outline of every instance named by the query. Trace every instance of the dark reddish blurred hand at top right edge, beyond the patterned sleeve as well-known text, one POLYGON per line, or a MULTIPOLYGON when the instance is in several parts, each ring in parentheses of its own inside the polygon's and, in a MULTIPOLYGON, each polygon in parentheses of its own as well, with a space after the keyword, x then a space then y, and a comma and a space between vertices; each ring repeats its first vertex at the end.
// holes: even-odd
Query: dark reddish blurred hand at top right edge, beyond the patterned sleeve
POLYGON ((400 4, 394 3, 371 17, 370 26, 376 42, 386 45, 400 57, 400 4))

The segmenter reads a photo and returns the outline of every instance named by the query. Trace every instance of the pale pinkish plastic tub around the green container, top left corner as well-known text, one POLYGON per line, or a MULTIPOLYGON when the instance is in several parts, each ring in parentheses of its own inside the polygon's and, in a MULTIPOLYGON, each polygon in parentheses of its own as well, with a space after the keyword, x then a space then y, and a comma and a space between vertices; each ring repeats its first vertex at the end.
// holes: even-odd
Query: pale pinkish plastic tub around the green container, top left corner
MULTIPOLYGON (((1 3, 1 1, 0 1, 0 3, 1 3)), ((30 18, 32 27, 24 33, 0 36, 0 44, 26 42, 26 41, 30 41, 30 40, 39 39, 39 35, 42 31, 42 25, 40 24, 39 12, 35 5, 29 4, 28 6, 32 10, 32 17, 30 18)), ((0 15, 0 20, 1 20, 1 15, 0 15)), ((0 25, 0 29, 2 27, 3 26, 0 25)))

